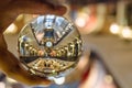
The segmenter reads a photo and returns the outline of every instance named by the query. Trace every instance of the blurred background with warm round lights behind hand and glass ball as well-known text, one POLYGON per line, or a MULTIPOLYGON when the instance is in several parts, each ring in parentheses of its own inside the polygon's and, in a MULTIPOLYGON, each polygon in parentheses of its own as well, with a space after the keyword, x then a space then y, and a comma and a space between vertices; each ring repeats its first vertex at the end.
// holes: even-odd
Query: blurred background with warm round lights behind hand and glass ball
MULTIPOLYGON (((67 0, 65 4, 69 9, 65 16, 76 24, 87 50, 75 72, 48 87, 29 87, 1 73, 0 88, 131 88, 132 0, 67 0)), ((4 32, 8 50, 16 57, 18 34, 36 16, 20 14, 4 32)))

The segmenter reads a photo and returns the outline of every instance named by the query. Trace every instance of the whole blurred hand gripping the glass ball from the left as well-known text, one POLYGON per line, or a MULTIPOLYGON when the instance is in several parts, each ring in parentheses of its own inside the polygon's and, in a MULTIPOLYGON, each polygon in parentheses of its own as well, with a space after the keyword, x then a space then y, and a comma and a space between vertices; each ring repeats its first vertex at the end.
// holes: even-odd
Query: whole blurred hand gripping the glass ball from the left
MULTIPOLYGON (((55 1, 55 0, 53 0, 55 1)), ((63 15, 66 8, 47 0, 3 0, 0 1, 0 69, 9 77, 26 85, 48 85, 50 80, 30 75, 18 58, 8 51, 3 38, 4 30, 21 13, 63 15)))

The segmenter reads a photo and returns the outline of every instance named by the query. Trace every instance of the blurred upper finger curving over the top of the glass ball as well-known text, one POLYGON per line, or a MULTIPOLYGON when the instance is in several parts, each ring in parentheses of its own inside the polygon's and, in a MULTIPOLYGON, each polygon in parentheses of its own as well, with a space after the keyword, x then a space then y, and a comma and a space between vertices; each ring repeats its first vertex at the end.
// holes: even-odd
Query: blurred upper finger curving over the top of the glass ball
MULTIPOLYGON (((55 2, 55 0, 53 1, 55 2)), ((0 33, 2 34, 21 13, 63 15, 66 10, 66 7, 53 4, 48 0, 12 0, 2 9, 0 8, 2 12, 0 13, 0 33)))

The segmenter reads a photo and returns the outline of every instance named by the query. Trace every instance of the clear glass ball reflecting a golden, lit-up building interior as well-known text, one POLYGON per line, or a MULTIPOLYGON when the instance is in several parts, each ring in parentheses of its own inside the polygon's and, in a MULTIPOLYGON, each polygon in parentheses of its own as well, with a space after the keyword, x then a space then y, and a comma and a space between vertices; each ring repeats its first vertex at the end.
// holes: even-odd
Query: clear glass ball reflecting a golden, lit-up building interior
POLYGON ((65 76, 76 67, 81 55, 81 38, 67 19, 41 15, 26 24, 18 38, 20 61, 41 77, 65 76))

